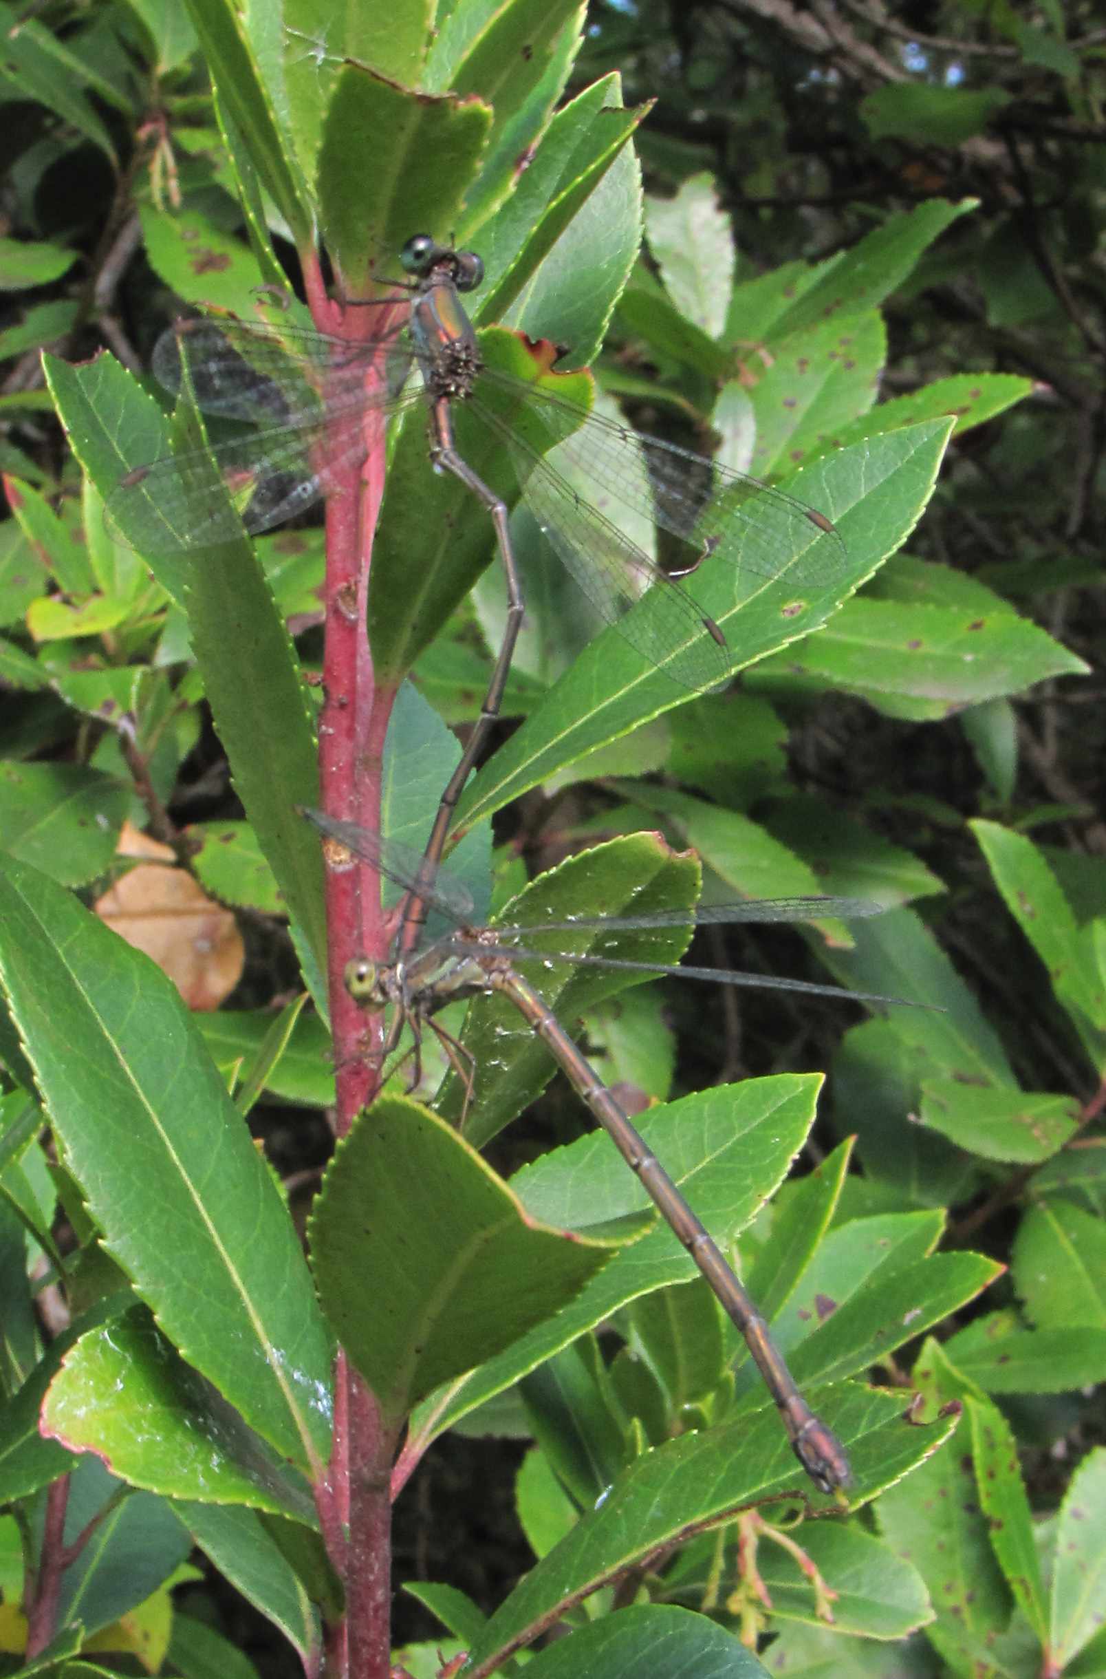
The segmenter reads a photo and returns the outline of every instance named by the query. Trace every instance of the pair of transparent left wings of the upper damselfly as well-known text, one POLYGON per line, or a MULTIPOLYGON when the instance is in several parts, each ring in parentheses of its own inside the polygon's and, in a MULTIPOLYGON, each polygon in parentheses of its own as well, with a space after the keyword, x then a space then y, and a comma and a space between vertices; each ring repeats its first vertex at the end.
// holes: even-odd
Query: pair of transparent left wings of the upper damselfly
POLYGON ((290 326, 178 322, 154 348, 154 373, 232 435, 134 467, 107 497, 107 520, 156 554, 284 524, 364 453, 366 415, 420 400, 403 391, 413 354, 406 332, 354 343, 290 326))

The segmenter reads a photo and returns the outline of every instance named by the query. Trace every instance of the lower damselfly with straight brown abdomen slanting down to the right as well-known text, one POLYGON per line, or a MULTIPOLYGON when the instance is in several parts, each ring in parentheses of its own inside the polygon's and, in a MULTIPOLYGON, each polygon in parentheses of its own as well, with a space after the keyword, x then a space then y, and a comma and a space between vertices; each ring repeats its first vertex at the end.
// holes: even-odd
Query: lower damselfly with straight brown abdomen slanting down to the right
POLYGON ((327 848, 331 866, 339 868, 352 858, 359 858, 406 892, 418 892, 431 910, 453 923, 453 932, 436 939, 415 955, 399 955, 396 960, 384 964, 371 962, 366 957, 349 962, 346 986, 351 996, 366 1009, 394 1007, 398 1021, 411 1028, 416 1049, 423 1024, 428 1024, 438 1033, 446 1056, 468 1093, 472 1091, 477 1070, 463 1064, 467 1051, 433 1016, 448 1002, 462 997, 487 992, 498 992, 507 997, 547 1046, 581 1100, 591 1108, 594 1118, 608 1132, 631 1170, 636 1172, 661 1217, 683 1242, 707 1278, 723 1311, 727 1311, 742 1333, 784 1419, 787 1437, 802 1467, 826 1493, 843 1486, 849 1476, 844 1449, 826 1424, 814 1415, 796 1387, 780 1352, 769 1335, 767 1323, 733 1274, 722 1249, 683 1199, 671 1177, 650 1153, 628 1115, 596 1070, 576 1048, 556 1014, 519 972, 517 964, 537 962, 542 967, 549 967, 556 962, 566 962, 639 974, 675 974, 685 979, 707 979, 730 986, 772 986, 814 996, 888 1004, 896 999, 871 997, 841 991, 836 986, 817 986, 796 979, 777 979, 727 969, 619 960, 601 954, 574 955, 567 950, 564 955, 557 955, 545 945, 534 949, 535 939, 544 940, 547 935, 557 932, 579 939, 592 934, 648 934, 663 928, 727 925, 735 922, 811 922, 822 920, 824 917, 873 915, 879 912, 879 905, 863 898, 765 898, 760 902, 708 905, 700 910, 663 910, 641 917, 576 917, 567 922, 542 922, 535 927, 475 928, 465 923, 465 917, 472 913, 472 900, 467 888, 460 881, 445 876, 428 881, 425 856, 421 853, 410 846, 383 840, 379 834, 359 828, 356 823, 337 821, 321 811, 304 811, 302 814, 331 841, 327 848))

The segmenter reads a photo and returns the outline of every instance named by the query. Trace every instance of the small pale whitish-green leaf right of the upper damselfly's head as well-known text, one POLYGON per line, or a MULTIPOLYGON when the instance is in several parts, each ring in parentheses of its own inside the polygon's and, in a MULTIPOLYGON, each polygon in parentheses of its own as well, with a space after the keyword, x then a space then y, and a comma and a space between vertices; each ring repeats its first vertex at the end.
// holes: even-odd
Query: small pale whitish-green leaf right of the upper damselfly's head
POLYGON ((720 337, 733 289, 733 232, 713 176, 690 175, 675 198, 646 198, 644 230, 680 314, 720 337))

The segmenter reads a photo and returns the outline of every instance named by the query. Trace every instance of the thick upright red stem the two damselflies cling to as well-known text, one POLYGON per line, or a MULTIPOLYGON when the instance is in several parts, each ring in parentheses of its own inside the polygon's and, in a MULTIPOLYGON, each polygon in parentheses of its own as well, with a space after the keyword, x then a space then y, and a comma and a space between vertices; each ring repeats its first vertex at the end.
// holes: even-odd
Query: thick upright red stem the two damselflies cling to
MULTIPOLYGON (((304 264, 307 299, 321 331, 379 331, 379 311, 349 311, 326 297, 317 260, 304 264)), ((384 432, 366 415, 366 455, 331 489, 326 514, 324 702, 319 720, 319 782, 331 816, 379 828, 383 749, 394 687, 379 687, 366 633, 369 557, 384 487, 384 432)), ((388 937, 379 876, 342 860, 326 870, 327 984, 337 1135, 374 1096, 381 1023, 352 1001, 342 975, 352 957, 383 960, 388 937)), ((344 1352, 334 1367, 334 1437, 326 1479, 316 1489, 322 1535, 346 1587, 344 1620, 327 1634, 334 1679, 388 1679, 391 1608, 391 1503, 394 1439, 384 1431, 371 1389, 344 1352)))

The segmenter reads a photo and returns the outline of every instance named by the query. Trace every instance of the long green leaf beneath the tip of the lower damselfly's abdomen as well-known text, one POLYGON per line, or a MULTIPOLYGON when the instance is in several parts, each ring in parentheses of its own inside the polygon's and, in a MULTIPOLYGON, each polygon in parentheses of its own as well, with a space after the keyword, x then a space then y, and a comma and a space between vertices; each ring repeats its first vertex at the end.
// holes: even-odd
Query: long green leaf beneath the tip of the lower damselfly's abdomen
MULTIPOLYGON (((908 1474, 952 1425, 948 1419, 903 1425, 901 1400, 889 1394, 839 1390, 816 1397, 849 1449, 859 1486, 871 1472, 881 1479, 908 1474)), ((483 1679, 542 1625, 660 1546, 754 1503, 794 1496, 801 1471, 789 1459, 790 1447, 772 1409, 668 1441, 639 1457, 599 1508, 587 1511, 492 1615, 470 1649, 467 1679, 483 1679)), ((821 1498, 807 1496, 816 1508, 826 1508, 821 1498)))

